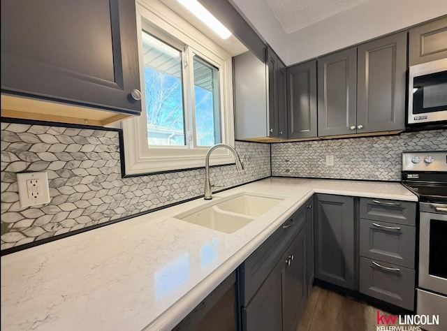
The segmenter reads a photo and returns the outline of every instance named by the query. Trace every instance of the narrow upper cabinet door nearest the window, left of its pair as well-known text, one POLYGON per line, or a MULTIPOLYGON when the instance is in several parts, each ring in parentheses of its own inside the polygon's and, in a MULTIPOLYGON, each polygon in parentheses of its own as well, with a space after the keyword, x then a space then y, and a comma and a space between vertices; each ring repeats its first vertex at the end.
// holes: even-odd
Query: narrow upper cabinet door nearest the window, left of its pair
POLYGON ((269 137, 278 137, 278 58, 267 49, 269 137))

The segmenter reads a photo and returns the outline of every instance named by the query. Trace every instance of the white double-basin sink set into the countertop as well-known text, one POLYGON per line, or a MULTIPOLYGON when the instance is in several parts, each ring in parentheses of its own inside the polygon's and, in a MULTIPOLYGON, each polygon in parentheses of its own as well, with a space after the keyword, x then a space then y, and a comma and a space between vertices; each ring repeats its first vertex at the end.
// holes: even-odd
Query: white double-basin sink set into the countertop
POLYGON ((235 196, 216 199, 203 207, 183 212, 175 218, 223 233, 235 233, 282 200, 284 198, 278 196, 239 193, 235 196))

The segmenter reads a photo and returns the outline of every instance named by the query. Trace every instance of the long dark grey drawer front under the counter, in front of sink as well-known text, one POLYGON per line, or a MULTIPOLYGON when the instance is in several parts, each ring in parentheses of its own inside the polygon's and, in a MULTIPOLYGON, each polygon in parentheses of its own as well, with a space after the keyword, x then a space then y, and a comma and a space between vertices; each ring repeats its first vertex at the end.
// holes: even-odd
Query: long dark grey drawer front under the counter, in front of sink
POLYGON ((290 246, 293 238, 305 226, 306 210, 306 206, 300 207, 240 265, 242 305, 247 306, 256 290, 263 284, 274 265, 290 246))

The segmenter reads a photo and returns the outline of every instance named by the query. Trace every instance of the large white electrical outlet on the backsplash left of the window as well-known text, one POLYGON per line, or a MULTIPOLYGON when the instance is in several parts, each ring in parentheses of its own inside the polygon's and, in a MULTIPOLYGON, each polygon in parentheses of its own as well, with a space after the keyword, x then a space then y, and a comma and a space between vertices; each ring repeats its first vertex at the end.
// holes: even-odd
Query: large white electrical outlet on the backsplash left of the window
POLYGON ((43 205, 50 202, 46 171, 17 173, 20 207, 43 205))

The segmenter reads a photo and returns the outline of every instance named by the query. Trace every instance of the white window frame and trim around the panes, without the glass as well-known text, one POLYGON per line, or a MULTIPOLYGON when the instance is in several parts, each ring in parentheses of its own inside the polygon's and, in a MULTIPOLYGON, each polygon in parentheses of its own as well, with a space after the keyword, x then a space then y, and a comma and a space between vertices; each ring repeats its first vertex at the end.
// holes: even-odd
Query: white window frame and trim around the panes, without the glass
MULTIPOLYGON (((144 73, 142 59, 142 28, 161 38, 174 47, 188 45, 189 71, 193 71, 192 50, 205 61, 219 69, 219 105, 221 113, 221 142, 234 147, 234 118, 233 118, 233 77, 232 60, 221 47, 210 41, 188 22, 156 0, 138 0, 136 3, 138 52, 140 54, 140 86, 144 89, 144 73)), ((182 49, 182 48, 180 48, 182 49)), ((183 78, 184 82, 188 79, 183 78)), ((184 98, 191 102, 191 85, 186 85, 184 98)), ((147 113, 145 109, 145 95, 142 93, 142 113, 138 117, 126 119, 123 122, 124 136, 124 163, 126 175, 145 174, 150 172, 163 172, 170 170, 182 170, 200 168, 205 166, 205 154, 210 147, 197 147, 196 135, 193 134, 189 142, 186 134, 186 146, 154 146, 147 144, 147 113), (191 148, 193 147, 193 148, 191 148)), ((192 101, 193 102, 193 101, 192 101)), ((185 108, 192 105, 185 105, 185 108)), ((185 111, 185 123, 190 128, 195 126, 195 119, 189 117, 185 111)), ((233 156, 228 149, 216 149, 210 157, 210 164, 221 165, 234 163, 233 156)))

